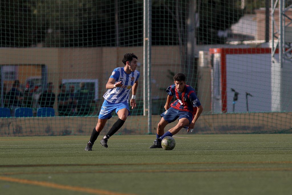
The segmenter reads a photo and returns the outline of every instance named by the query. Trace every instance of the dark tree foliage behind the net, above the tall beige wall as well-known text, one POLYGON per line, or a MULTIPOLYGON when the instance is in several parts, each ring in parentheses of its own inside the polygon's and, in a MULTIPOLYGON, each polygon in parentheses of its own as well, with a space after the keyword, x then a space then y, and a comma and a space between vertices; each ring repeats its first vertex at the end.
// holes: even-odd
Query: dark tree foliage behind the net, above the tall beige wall
MULTIPOLYGON (((152 0, 153 45, 185 43, 190 1, 152 0)), ((197 0, 197 12, 198 44, 223 43, 218 30, 228 29, 243 13, 237 0, 197 0)), ((143 1, 1 0, 1 46, 37 43, 46 47, 141 46, 143 1)))

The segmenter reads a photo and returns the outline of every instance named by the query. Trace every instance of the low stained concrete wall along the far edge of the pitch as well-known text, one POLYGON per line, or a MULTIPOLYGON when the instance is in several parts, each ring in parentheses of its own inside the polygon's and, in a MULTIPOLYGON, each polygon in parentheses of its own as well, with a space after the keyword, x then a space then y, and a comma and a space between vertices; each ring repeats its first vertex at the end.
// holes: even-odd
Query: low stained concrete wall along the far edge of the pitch
MULTIPOLYGON (((152 115, 152 134, 156 134, 159 115, 152 115)), ((97 117, 0 118, 0 136, 90 135, 97 117)), ((117 116, 107 121, 108 130, 117 116)), ((166 126, 169 130, 173 122, 166 126)), ((196 134, 220 133, 292 133, 292 113, 237 113, 201 115, 196 122, 196 134)), ((105 133, 105 132, 104 132, 105 133)), ((147 134, 146 116, 129 116, 117 134, 147 134)), ((178 134, 187 134, 182 129, 178 134)), ((155 137, 155 136, 153 136, 155 137)))

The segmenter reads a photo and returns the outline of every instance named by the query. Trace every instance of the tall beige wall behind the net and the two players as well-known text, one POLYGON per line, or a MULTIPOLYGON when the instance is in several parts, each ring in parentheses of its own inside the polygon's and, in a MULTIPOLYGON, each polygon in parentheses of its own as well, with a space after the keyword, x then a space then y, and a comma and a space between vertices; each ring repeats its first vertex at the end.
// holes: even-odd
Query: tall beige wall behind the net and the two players
MULTIPOLYGON (((1 48, 0 65, 46 65, 47 81, 53 82, 56 95, 59 93, 58 86, 62 79, 98 78, 98 96, 102 98, 102 95, 106 92, 105 84, 112 70, 124 66, 121 61, 122 57, 125 53, 130 52, 138 56, 139 67, 137 70, 140 71, 140 79, 137 100, 142 100, 143 47, 1 48)), ((167 77, 168 70, 175 73, 182 71, 179 46, 153 46, 152 53, 151 83, 153 98, 166 98, 164 89, 173 83, 167 77)), ((18 74, 26 75, 27 73, 18 74)), ((7 87, 7 90, 9 90, 9 87, 7 87)), ((55 101, 56 108, 57 101, 55 101)))

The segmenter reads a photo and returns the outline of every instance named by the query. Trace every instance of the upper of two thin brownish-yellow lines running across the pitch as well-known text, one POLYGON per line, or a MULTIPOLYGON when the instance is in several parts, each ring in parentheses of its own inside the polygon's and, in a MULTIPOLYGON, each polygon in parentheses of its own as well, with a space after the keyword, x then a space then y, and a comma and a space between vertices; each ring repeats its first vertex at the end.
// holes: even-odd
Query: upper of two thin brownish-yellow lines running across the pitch
POLYGON ((0 165, 0 168, 15 167, 67 167, 67 166, 125 166, 125 165, 201 165, 201 164, 292 164, 292 161, 244 161, 244 162, 176 162, 176 163, 97 163, 97 164, 32 164, 0 165))

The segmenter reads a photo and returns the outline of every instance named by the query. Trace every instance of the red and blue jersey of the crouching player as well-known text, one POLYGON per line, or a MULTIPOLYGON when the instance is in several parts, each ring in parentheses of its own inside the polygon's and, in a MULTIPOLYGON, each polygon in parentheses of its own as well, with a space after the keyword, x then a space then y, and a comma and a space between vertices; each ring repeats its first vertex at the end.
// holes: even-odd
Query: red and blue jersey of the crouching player
POLYGON ((185 89, 179 92, 173 84, 166 89, 166 92, 169 96, 175 96, 176 98, 170 105, 174 109, 191 112, 195 115, 197 107, 201 105, 194 88, 189 85, 185 85, 185 89))

